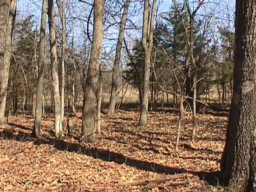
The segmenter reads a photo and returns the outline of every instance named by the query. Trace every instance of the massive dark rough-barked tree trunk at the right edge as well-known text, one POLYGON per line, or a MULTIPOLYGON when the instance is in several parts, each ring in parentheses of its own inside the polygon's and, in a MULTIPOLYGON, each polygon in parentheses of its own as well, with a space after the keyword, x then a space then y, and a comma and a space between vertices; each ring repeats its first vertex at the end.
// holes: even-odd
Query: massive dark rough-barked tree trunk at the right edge
POLYGON ((221 171, 230 191, 256 191, 256 1, 236 0, 233 98, 221 171))

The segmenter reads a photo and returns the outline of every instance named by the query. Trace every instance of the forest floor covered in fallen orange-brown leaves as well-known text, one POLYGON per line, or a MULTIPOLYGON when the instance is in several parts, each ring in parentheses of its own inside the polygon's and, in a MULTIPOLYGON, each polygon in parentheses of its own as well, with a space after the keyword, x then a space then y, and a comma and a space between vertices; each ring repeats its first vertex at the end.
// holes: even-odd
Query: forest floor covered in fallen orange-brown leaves
POLYGON ((72 137, 61 140, 52 114, 43 118, 40 139, 30 137, 32 116, 9 117, 0 126, 0 191, 224 191, 218 172, 227 113, 198 114, 194 142, 192 116, 184 114, 176 154, 178 113, 171 108, 149 112, 144 128, 137 110, 102 115, 96 144, 79 142, 81 116, 69 118, 72 137))

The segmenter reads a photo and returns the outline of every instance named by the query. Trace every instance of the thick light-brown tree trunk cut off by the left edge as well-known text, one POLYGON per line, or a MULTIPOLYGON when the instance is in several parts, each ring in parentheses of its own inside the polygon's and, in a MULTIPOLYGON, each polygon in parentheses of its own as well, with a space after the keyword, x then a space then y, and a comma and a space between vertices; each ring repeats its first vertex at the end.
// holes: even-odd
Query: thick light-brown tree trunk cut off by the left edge
POLYGON ((17 0, 0 0, 0 124, 4 122, 17 0))

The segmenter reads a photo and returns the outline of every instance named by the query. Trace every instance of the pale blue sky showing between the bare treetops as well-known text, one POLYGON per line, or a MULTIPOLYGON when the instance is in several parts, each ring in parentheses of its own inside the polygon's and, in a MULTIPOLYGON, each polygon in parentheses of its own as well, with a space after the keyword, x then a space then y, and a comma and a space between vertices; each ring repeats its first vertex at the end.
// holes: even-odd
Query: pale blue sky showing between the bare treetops
MULTIPOLYGON (((120 0, 121 1, 121 0, 120 0)), ((88 13, 90 12, 90 5, 85 3, 78 2, 78 0, 68 0, 70 2, 70 9, 68 11, 68 20, 73 20, 72 24, 74 25, 74 38, 76 44, 78 46, 84 46, 83 39, 86 37, 84 30, 86 28, 86 20, 88 13), (75 19, 74 19, 75 18, 75 19)), ((92 0, 88 0, 88 2, 92 3, 92 0)), ((183 0, 177 0, 177 2, 183 2, 183 0)), ((190 7, 193 9, 196 7, 196 2, 198 1, 190 1, 190 7)), ((159 8, 158 14, 162 12, 168 12, 170 7, 172 6, 172 0, 158 0, 159 8)), ((34 20, 36 22, 37 28, 40 27, 40 17, 41 17, 41 4, 42 0, 18 0, 18 17, 17 18, 25 18, 28 15, 33 14, 34 20)), ((137 10, 134 14, 130 14, 130 20, 136 24, 137 28, 133 29, 131 27, 131 22, 128 22, 127 25, 130 25, 128 30, 126 30, 126 41, 128 42, 128 46, 131 48, 134 40, 141 37, 141 29, 142 29, 142 16, 143 16, 143 2, 140 0, 133 0, 130 5, 130 11, 134 10, 132 6, 134 4, 137 5, 137 10)), ((111 6, 111 3, 109 4, 111 6)), ((205 0, 205 4, 198 11, 198 17, 204 18, 207 17, 212 9, 216 8, 214 13, 214 25, 217 26, 228 26, 230 28, 234 28, 234 10, 235 10, 235 0, 205 0), (216 7, 217 6, 217 7, 216 7), (231 22, 227 22, 228 15, 230 17, 231 22)), ((118 7, 110 7, 113 11, 120 10, 118 7)), ((57 12, 57 8, 56 8, 57 12)), ((119 13, 121 15, 121 12, 119 13)), ((111 17, 109 17, 111 19, 111 17)), ((120 18, 116 17, 117 21, 120 21, 120 18)), ((60 25, 60 20, 56 18, 56 24, 60 25)), ((111 22, 113 22, 112 20, 111 22)), ((108 25, 108 22, 105 24, 108 25)), ((71 28, 68 25, 68 30, 71 28)), ((214 27, 214 26, 213 26, 214 27)), ((90 31, 92 31, 92 25, 90 26, 90 31)), ((118 37, 118 24, 113 25, 105 32, 104 38, 104 52, 109 57, 109 64, 111 65, 114 61, 114 53, 115 53, 115 44, 118 37)))

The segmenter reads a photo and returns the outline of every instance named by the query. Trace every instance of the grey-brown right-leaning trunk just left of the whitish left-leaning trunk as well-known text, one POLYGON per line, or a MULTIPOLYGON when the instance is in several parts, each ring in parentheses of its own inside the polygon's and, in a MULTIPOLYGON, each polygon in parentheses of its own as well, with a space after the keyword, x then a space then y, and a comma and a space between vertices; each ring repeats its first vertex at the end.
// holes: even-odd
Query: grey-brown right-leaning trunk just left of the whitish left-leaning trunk
POLYGON ((41 121, 42 121, 46 14, 47 14, 47 0, 43 0, 41 31, 40 31, 40 41, 39 41, 38 82, 36 87, 36 114, 35 114, 34 127, 32 131, 32 136, 37 138, 40 136, 40 128, 41 128, 41 121))

